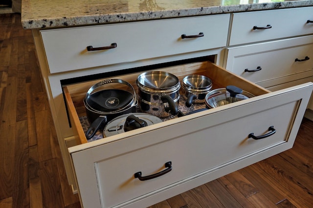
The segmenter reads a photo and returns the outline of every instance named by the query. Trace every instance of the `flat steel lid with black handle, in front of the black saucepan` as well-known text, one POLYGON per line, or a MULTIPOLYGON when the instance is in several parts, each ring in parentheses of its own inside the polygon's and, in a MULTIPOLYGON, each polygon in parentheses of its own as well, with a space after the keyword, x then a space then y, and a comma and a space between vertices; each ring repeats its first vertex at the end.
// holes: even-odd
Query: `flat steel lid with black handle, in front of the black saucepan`
POLYGON ((112 119, 103 130, 103 137, 109 137, 125 131, 161 123, 162 120, 148 113, 130 113, 112 119), (139 119, 134 121, 133 117, 139 119), (144 123, 144 124, 143 124, 144 123), (141 126, 140 126, 141 125, 141 126))

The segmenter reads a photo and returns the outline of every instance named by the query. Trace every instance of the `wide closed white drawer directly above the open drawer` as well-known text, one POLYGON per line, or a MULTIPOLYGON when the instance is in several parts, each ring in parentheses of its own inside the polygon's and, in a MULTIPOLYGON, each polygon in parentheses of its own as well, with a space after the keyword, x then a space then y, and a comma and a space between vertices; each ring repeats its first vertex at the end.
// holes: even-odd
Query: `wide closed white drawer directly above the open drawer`
POLYGON ((229 14, 42 30, 50 73, 224 47, 229 14), (214 32, 213 32, 214 31, 214 32), (185 38, 199 35, 203 37, 185 38), (62 41, 60 41, 62 40, 62 41), (115 48, 88 51, 111 46, 115 48), (148 50, 147 50, 148 48, 148 50))

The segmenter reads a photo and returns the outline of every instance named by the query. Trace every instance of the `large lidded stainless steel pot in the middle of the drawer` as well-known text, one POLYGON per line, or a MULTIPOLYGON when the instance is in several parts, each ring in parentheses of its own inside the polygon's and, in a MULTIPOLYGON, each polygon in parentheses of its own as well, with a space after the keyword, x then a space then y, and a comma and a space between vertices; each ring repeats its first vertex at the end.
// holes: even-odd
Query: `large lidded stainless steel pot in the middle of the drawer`
POLYGON ((178 114, 179 79, 168 72, 148 71, 137 78, 138 103, 144 113, 160 118, 178 114))

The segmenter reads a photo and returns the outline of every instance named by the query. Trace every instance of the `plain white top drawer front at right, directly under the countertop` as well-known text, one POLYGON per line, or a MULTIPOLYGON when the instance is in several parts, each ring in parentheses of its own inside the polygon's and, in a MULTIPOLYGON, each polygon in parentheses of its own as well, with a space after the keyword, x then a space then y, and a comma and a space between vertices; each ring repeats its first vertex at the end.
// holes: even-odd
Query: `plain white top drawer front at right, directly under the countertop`
POLYGON ((313 7, 235 13, 229 45, 261 42, 313 33, 313 7), (268 29, 253 29, 254 26, 268 29))

